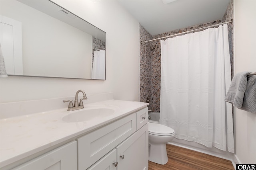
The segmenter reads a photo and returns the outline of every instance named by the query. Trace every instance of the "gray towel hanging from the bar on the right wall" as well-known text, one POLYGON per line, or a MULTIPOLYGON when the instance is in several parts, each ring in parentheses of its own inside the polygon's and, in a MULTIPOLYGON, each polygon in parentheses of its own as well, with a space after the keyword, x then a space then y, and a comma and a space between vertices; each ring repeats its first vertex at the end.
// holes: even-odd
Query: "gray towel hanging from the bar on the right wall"
POLYGON ((225 101, 238 109, 256 113, 256 76, 240 72, 234 76, 225 101))

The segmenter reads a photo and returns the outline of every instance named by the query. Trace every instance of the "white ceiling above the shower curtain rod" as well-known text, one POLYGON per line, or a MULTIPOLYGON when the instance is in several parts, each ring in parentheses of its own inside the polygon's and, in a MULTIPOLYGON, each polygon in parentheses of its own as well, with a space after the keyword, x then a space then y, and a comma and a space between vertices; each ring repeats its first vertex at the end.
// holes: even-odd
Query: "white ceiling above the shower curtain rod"
POLYGON ((220 20, 230 0, 118 0, 151 34, 220 20), (163 2, 173 1, 168 4, 163 2))

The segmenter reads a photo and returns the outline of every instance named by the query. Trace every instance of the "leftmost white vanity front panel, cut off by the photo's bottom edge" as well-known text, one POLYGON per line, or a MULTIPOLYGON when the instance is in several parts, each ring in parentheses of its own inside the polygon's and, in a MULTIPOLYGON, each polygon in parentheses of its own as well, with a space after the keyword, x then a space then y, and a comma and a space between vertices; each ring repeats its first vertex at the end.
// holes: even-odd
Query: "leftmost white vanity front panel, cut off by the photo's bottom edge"
POLYGON ((76 165, 76 141, 73 141, 12 170, 76 170, 76 165))

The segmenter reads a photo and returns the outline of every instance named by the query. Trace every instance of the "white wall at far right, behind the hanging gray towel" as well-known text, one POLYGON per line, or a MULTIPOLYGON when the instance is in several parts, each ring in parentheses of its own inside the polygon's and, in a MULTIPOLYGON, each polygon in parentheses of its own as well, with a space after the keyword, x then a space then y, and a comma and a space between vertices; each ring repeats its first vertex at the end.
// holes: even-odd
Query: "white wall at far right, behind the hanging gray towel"
MULTIPOLYGON (((256 0, 234 0, 235 74, 256 72, 256 0)), ((239 163, 256 163, 256 114, 235 109, 235 154, 239 163)))

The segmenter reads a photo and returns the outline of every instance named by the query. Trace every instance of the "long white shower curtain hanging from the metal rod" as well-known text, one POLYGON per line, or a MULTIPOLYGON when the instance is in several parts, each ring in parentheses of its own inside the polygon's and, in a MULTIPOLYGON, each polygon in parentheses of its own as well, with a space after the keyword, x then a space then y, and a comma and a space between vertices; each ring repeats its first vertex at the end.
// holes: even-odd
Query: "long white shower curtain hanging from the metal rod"
POLYGON ((226 24, 162 40, 160 123, 178 139, 234 152, 230 82, 226 24))

